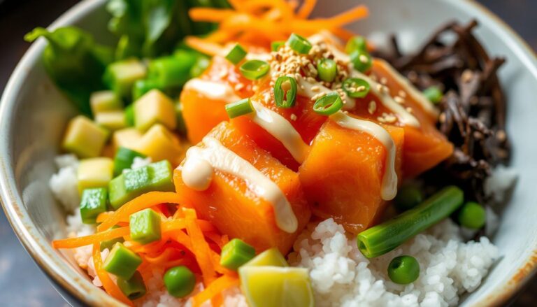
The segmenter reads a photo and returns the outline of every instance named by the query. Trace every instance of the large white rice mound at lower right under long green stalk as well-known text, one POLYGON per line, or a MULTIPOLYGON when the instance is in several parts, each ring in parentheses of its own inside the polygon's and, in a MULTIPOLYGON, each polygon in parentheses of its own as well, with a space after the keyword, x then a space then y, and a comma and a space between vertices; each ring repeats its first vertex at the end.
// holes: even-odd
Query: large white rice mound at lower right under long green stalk
POLYGON ((317 306, 454 306, 459 295, 480 285, 499 256, 486 237, 464 243, 449 219, 374 259, 361 255, 355 238, 332 219, 308 229, 289 262, 310 270, 317 306), (389 262, 399 255, 420 263, 420 277, 410 285, 387 277, 389 262))

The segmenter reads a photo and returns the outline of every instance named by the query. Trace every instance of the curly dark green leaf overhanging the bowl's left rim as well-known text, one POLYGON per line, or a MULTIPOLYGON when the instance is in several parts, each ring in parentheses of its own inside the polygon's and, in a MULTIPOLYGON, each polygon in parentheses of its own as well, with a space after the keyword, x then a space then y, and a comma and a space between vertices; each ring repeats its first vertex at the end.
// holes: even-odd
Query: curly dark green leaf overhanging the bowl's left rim
POLYGON ((113 50, 95 43, 91 34, 76 27, 54 31, 38 27, 24 36, 26 41, 44 37, 49 42, 43 64, 50 78, 85 115, 91 115, 90 94, 103 90, 103 71, 113 60, 113 50))

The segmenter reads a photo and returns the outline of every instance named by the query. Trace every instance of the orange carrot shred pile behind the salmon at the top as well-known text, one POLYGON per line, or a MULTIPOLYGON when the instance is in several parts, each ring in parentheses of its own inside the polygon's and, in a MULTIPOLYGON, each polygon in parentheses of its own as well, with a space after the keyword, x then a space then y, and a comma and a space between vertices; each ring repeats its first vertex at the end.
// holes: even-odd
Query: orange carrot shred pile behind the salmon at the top
POLYGON ((217 55, 222 45, 230 41, 268 48, 272 41, 285 41, 292 33, 310 36, 328 30, 348 40, 352 32, 343 26, 368 15, 367 8, 359 5, 334 17, 308 19, 317 0, 304 0, 298 9, 296 1, 285 0, 233 0, 229 3, 232 9, 191 8, 192 20, 215 22, 218 29, 206 38, 188 36, 187 45, 208 55, 217 55))

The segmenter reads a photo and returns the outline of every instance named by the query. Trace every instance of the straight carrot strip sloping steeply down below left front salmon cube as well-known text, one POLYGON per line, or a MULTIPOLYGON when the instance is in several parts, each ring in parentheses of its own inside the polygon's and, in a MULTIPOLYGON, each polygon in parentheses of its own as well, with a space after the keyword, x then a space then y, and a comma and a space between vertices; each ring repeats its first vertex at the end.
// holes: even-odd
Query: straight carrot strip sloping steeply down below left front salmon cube
POLYGON ((192 252, 199 264, 203 275, 203 283, 207 286, 216 278, 215 266, 210 256, 212 250, 209 248, 207 241, 203 237, 203 232, 196 224, 196 212, 192 209, 184 209, 187 222, 187 233, 192 242, 192 252))

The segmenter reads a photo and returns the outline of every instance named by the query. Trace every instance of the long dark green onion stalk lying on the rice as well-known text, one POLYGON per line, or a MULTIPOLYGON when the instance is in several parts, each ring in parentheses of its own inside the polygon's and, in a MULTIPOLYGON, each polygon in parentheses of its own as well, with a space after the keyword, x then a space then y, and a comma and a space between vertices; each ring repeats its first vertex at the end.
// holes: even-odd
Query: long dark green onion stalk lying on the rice
POLYGON ((358 249, 368 258, 384 255, 405 243, 409 238, 450 216, 464 201, 458 187, 445 187, 419 206, 361 231, 357 236, 358 249))

